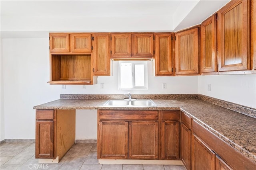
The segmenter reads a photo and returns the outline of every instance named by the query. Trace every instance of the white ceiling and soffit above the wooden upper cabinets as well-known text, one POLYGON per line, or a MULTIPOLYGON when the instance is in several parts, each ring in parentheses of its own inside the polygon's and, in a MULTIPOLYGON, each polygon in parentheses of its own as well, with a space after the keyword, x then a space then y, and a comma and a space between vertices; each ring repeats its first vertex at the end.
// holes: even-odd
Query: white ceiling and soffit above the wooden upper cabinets
POLYGON ((228 1, 1 0, 1 38, 49 31, 178 31, 200 24, 228 1))

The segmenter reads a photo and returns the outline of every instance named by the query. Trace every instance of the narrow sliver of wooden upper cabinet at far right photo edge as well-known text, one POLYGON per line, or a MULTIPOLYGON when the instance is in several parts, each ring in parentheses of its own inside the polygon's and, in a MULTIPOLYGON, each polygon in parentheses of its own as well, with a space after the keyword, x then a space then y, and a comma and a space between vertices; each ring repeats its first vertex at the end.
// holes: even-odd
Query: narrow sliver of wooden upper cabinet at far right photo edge
POLYGON ((256 1, 251 1, 251 61, 252 70, 256 70, 256 1))

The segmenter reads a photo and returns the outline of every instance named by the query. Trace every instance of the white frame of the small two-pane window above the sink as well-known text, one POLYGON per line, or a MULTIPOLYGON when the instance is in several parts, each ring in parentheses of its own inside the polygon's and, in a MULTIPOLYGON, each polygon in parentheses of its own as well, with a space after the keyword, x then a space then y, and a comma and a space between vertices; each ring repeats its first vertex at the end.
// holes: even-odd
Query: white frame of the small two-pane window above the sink
POLYGON ((148 89, 148 63, 147 61, 119 61, 118 63, 118 89, 119 90, 147 90, 148 89), (132 64, 132 70, 131 70, 131 76, 132 76, 132 87, 121 87, 121 64, 122 63, 131 63, 132 64), (136 70, 135 65, 136 64, 142 64, 144 65, 144 86, 135 86, 135 79, 136 79, 136 70))

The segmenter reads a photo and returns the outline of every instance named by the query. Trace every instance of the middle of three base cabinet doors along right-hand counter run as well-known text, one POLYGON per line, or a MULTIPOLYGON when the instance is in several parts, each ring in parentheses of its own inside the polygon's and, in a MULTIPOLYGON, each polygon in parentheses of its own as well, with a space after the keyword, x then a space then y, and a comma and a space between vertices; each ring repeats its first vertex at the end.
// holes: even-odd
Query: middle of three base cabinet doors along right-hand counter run
POLYGON ((192 170, 215 170, 215 153, 196 135, 192 135, 192 170))

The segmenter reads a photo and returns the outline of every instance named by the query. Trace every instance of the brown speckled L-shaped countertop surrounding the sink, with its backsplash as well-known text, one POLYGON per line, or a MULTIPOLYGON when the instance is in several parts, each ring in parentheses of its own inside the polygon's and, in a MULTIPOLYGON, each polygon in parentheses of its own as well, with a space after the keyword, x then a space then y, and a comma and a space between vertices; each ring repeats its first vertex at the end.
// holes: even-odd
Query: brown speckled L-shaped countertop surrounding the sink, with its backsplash
MULTIPOLYGON (((150 96, 146 97, 150 98, 150 96)), ((143 98, 146 97, 144 96, 143 98)), ((228 102, 228 104, 224 104, 224 106, 222 106, 225 101, 222 102, 221 100, 202 95, 190 95, 190 97, 158 96, 158 98, 164 99, 157 99, 156 97, 156 99, 153 98, 152 100, 157 105, 156 107, 104 107, 102 105, 107 101, 104 97, 100 99, 85 99, 83 97, 78 97, 78 99, 66 98, 67 97, 65 96, 61 96, 59 100, 35 106, 34 109, 181 110, 256 163, 256 109, 228 102), (230 105, 232 105, 231 108, 230 105), (228 109, 224 107, 228 107, 228 109), (232 111, 230 109, 237 110, 232 111), (244 113, 247 115, 238 113, 241 111, 246 111, 248 113, 244 113)), ((72 98, 72 96, 69 98, 72 98)), ((110 98, 118 98, 118 96, 112 96, 110 98)))

